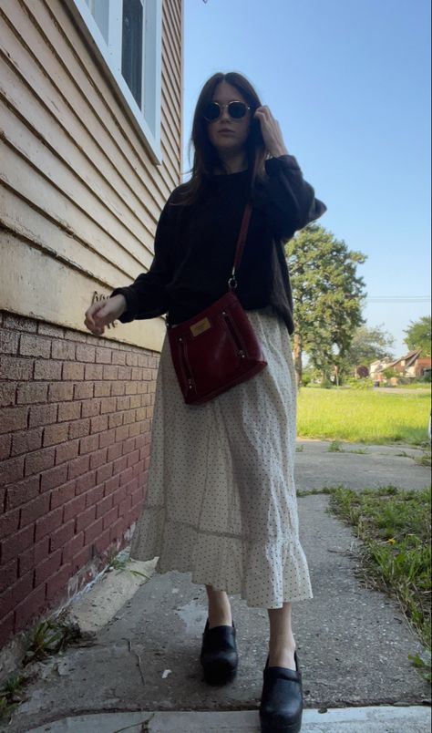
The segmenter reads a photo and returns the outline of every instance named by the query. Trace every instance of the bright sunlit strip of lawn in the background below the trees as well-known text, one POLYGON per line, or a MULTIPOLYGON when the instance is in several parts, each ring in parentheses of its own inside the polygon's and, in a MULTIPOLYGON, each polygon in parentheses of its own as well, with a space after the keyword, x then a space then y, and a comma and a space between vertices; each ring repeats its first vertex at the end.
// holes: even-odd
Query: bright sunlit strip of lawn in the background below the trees
POLYGON ((299 438, 385 444, 425 444, 430 395, 379 390, 308 389, 298 396, 299 438))

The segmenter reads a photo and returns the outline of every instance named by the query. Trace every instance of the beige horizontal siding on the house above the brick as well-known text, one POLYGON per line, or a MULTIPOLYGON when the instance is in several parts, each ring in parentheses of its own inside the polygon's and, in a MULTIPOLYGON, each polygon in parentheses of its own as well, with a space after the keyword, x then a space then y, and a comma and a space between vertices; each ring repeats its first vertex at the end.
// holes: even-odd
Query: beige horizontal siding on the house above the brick
MULTIPOLYGON (((149 268, 180 182, 181 25, 182 0, 164 0, 156 166, 66 0, 0 4, 0 308, 83 328, 95 291, 149 268)), ((163 333, 155 319, 108 336, 159 349, 163 333)))

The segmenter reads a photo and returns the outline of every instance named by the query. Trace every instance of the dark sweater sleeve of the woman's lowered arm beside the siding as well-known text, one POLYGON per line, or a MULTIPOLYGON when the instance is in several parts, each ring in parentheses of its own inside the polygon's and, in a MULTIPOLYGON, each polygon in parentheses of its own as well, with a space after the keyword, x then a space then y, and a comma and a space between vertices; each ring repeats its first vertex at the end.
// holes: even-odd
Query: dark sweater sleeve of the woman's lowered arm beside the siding
POLYGON ((174 231, 170 216, 170 199, 160 213, 156 228, 155 256, 148 273, 141 273, 134 283, 118 287, 111 294, 124 295, 127 310, 120 315, 119 321, 127 324, 143 318, 155 318, 168 311, 166 285, 170 280, 170 250, 174 245, 174 231))

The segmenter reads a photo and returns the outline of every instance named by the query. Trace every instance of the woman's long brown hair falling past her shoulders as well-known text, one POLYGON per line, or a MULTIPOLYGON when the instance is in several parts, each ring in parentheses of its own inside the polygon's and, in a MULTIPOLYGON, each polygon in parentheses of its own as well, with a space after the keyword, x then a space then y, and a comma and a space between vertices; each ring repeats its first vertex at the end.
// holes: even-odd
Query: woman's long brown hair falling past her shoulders
MULTIPOLYGON (((236 71, 230 71, 227 74, 218 72, 206 81, 201 89, 197 106, 193 116, 192 134, 189 143, 189 152, 193 148, 193 165, 191 169, 190 181, 181 186, 180 204, 191 204, 198 201, 201 193, 205 190, 205 183, 209 175, 215 172, 216 168, 226 170, 223 161, 218 156, 217 150, 211 145, 207 123, 203 117, 203 112, 213 98, 214 91, 221 81, 226 81, 235 87, 251 107, 251 116, 255 110, 261 107, 261 100, 250 81, 236 71)), ((264 161, 266 160, 267 151, 262 139, 261 126, 257 119, 251 119, 249 136, 245 145, 248 169, 251 171, 251 181, 260 181, 265 179, 264 161)), ((228 172, 228 171, 227 171, 228 172)))

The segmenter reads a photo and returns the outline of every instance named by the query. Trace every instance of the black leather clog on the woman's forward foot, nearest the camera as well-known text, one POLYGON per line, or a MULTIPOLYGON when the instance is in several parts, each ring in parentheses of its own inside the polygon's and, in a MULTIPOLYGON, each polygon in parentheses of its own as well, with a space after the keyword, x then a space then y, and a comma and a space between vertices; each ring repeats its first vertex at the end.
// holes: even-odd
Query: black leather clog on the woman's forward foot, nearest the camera
POLYGON ((298 733, 302 727, 303 685, 297 653, 295 671, 284 666, 263 670, 260 720, 262 733, 298 733))

